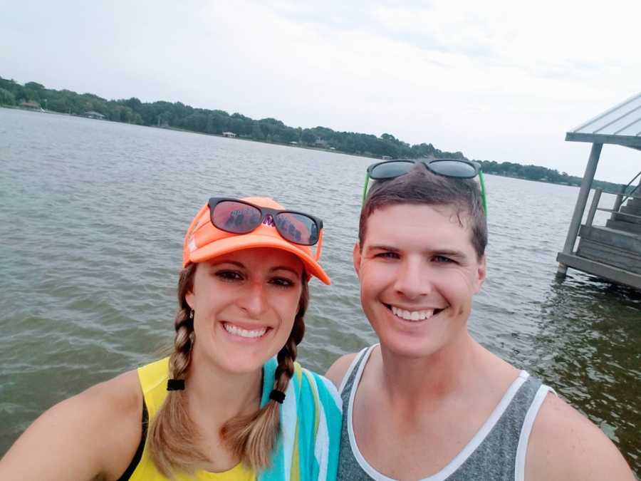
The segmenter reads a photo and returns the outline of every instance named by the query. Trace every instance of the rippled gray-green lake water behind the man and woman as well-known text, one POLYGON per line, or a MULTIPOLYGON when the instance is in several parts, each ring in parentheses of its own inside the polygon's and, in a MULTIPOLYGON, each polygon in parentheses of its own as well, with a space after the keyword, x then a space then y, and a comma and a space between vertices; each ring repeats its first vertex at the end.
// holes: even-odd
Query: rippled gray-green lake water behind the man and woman
MULTIPOLYGON (((171 344, 182 239, 213 195, 267 195, 325 221, 333 285, 311 283, 304 365, 323 372, 373 343, 351 264, 371 162, 0 108, 0 454, 53 403, 171 344)), ((573 270, 556 281, 578 189, 490 175, 486 187, 471 333, 597 423, 638 475, 641 294, 573 270)))

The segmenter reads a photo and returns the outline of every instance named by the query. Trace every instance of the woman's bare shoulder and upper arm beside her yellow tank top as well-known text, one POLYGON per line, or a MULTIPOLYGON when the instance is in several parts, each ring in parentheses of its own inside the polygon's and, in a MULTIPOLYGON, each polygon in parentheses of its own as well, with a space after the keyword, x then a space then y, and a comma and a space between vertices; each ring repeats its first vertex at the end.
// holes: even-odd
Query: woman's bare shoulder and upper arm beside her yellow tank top
POLYGON ((33 477, 20 479, 38 479, 33 470, 42 471, 41 479, 47 472, 67 472, 75 479, 117 478, 140 441, 141 418, 140 383, 136 371, 128 371, 48 409, 7 452, 2 466, 7 471, 0 472, 28 466, 33 477), (37 466, 30 461, 34 458, 37 466))

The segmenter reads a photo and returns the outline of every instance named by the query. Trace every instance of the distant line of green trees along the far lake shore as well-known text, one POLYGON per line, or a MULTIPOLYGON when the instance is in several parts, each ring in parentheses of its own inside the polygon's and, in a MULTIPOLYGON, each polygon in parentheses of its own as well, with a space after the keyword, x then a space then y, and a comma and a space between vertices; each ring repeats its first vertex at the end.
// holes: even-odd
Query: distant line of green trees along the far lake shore
MULTIPOLYGON (((410 145, 387 133, 380 137, 354 132, 336 132, 330 128, 293 128, 275 118, 254 120, 224 110, 193 108, 182 102, 141 102, 132 97, 106 100, 93 93, 75 93, 71 90, 53 90, 36 82, 24 86, 14 80, 0 77, 0 105, 52 110, 72 115, 105 118, 115 122, 138 125, 155 125, 193 132, 221 135, 234 133, 240 138, 279 144, 296 144, 303 147, 323 148, 348 154, 370 157, 395 158, 457 158, 467 159, 462 152, 444 152, 431 143, 410 145), (96 115, 98 114, 98 115, 96 115)), ((477 160, 489 174, 518 177, 527 180, 580 185, 581 177, 559 173, 537 165, 514 162, 477 160)), ((620 192, 622 185, 595 180, 594 187, 608 192, 620 192)))

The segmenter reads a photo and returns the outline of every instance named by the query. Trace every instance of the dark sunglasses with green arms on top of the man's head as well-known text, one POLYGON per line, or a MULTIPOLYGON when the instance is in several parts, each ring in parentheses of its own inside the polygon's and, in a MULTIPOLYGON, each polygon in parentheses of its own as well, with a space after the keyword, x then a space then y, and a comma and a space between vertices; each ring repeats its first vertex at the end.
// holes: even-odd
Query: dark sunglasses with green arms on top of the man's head
POLYGON ((368 186, 371 180, 390 180, 407 174, 412 170, 416 163, 422 163, 429 172, 445 177, 454 177, 459 179, 472 179, 479 176, 481 185, 481 199, 483 202, 483 212, 487 216, 487 202, 485 197, 485 182, 483 180, 483 171, 476 162, 460 159, 434 159, 434 160, 384 160, 376 162, 368 167, 365 175, 365 187, 363 187, 363 204, 368 195, 368 186))

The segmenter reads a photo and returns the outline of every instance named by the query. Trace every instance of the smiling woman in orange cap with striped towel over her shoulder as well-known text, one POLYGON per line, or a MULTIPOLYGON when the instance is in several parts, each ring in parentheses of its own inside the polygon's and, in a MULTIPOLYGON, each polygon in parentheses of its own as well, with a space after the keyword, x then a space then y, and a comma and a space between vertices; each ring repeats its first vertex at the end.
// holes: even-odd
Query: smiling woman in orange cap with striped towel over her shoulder
POLYGON ((330 283, 322 228, 271 199, 210 199, 184 238, 172 355, 41 415, 0 479, 333 480, 340 399, 294 362, 309 276, 330 283))

